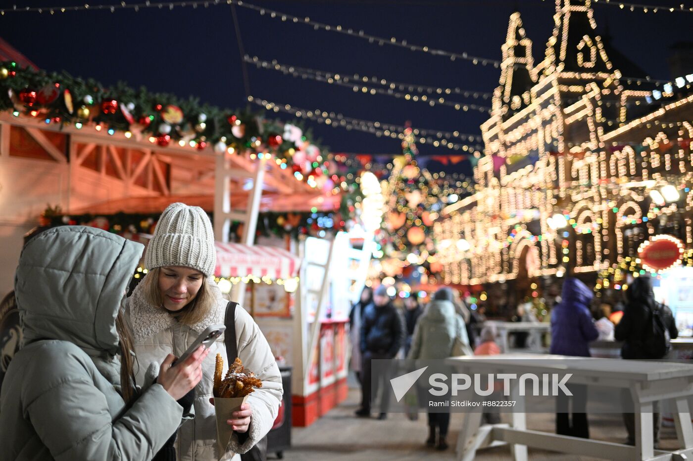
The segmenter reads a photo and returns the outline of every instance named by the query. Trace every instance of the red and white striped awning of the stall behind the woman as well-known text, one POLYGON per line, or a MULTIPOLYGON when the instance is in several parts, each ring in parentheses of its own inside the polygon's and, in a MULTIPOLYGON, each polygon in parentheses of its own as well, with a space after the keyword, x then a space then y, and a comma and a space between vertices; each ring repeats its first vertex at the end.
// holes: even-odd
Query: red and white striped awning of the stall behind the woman
POLYGON ((215 242, 217 277, 270 277, 286 279, 298 275, 301 258, 276 246, 247 246, 215 242))

